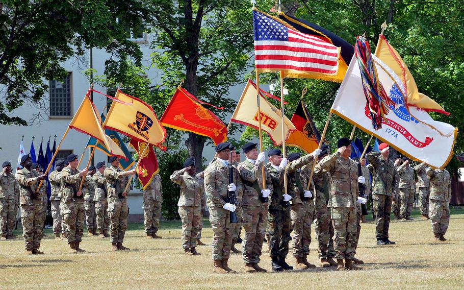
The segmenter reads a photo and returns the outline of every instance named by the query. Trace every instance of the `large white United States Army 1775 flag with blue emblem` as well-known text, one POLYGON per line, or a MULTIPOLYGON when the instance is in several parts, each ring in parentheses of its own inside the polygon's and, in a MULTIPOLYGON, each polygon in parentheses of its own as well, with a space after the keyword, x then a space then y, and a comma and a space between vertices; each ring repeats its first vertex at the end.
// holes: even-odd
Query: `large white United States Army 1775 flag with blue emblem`
POLYGON ((395 103, 385 115, 382 129, 372 128, 359 67, 354 57, 333 102, 331 112, 364 132, 389 143, 409 158, 443 168, 453 156, 457 128, 433 120, 424 110, 406 107, 406 92, 402 81, 377 57, 373 56, 373 60, 379 81, 395 103))

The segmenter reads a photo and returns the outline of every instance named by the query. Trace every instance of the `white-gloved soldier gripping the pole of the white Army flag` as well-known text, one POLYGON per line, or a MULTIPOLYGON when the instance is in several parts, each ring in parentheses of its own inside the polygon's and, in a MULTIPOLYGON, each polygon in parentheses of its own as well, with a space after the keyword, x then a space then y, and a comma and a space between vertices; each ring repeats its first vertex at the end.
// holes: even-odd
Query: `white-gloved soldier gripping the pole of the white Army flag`
MULTIPOLYGON (((286 170, 289 173, 290 191, 292 200, 290 219, 292 225, 293 256, 296 258, 296 269, 314 269, 316 265, 307 261, 310 254, 311 225, 314 221, 314 198, 311 190, 306 190, 310 183, 311 169, 314 159, 321 153, 316 149, 313 153, 300 157, 300 153, 291 153, 286 170)), ((311 181, 312 187, 314 183, 311 181)))

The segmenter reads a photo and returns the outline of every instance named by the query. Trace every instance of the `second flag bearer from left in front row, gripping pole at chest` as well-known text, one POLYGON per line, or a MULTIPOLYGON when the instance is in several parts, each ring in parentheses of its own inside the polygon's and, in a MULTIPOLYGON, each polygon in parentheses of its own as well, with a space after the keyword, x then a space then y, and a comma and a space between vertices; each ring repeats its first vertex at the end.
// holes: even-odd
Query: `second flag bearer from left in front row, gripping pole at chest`
POLYGON ((66 158, 69 163, 61 171, 61 206, 63 209, 64 222, 67 225, 66 236, 69 244, 69 253, 85 253, 80 248, 82 234, 84 233, 84 196, 88 191, 86 181, 79 189, 82 178, 85 178, 88 170, 79 171, 78 155, 70 154, 66 158))

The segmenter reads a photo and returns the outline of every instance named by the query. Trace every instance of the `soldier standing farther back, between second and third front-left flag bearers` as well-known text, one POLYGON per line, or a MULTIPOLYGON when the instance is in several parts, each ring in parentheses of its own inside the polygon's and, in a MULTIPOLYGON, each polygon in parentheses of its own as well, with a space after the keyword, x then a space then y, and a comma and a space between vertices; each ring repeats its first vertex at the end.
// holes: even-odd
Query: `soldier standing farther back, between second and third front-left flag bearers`
POLYGON ((95 203, 96 227, 98 229, 98 236, 101 238, 110 236, 108 234, 110 216, 108 215, 107 182, 103 175, 106 167, 105 161, 98 162, 96 166, 97 172, 92 176, 95 185, 93 202, 95 203))

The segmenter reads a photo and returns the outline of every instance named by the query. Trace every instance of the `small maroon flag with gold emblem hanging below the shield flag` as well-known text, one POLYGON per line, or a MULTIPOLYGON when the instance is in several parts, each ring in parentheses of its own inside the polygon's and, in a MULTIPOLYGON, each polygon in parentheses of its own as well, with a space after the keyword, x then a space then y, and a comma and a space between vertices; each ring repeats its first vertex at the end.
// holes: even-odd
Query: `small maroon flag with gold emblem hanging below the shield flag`
POLYGON ((139 154, 139 166, 137 167, 137 176, 145 189, 153 179, 153 176, 158 173, 158 159, 154 154, 153 146, 146 142, 139 142, 135 139, 131 139, 131 146, 139 154), (145 148, 148 147, 147 150, 145 148), (143 156, 141 154, 143 153, 143 156), (141 159, 140 159, 141 158, 141 159))

